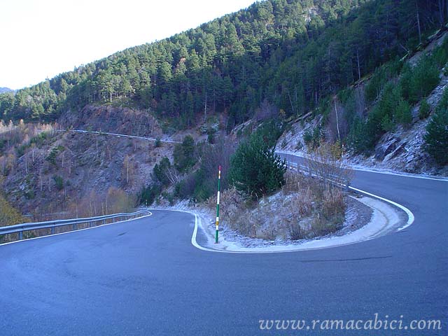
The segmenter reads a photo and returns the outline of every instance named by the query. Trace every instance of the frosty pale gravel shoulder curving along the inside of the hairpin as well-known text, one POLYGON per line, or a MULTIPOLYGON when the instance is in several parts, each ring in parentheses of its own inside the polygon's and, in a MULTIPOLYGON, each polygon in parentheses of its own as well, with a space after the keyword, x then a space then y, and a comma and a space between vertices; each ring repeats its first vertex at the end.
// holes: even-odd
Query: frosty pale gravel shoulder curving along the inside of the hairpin
MULTIPOLYGON (((283 241, 279 239, 266 241, 243 237, 221 225, 219 242, 215 244, 216 218, 212 213, 213 211, 204 207, 192 207, 188 201, 179 202, 172 207, 161 206, 157 209, 186 211, 197 215, 197 226, 201 230, 198 238, 200 239, 200 246, 207 251, 220 252, 274 253, 343 246, 386 235, 400 226, 402 222, 400 214, 386 202, 371 197, 351 197, 351 199, 353 199, 354 203, 359 202, 358 205, 360 207, 366 207, 367 211, 365 209, 360 211, 352 203, 346 211, 344 227, 341 230, 325 237, 300 241, 283 241), (363 225, 363 221, 368 223, 363 225)), ((193 239, 195 240, 195 245, 199 245, 196 241, 197 237, 193 236, 193 239)))

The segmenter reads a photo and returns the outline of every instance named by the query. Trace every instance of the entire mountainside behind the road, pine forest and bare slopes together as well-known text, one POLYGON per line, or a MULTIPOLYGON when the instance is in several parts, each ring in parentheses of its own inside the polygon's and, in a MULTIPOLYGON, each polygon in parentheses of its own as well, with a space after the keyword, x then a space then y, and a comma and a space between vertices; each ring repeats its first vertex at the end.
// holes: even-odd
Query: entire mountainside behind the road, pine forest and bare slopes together
POLYGON ((447 18, 442 0, 260 1, 2 93, 1 188, 34 220, 94 216, 207 200, 221 165, 223 190, 257 198, 284 182, 281 134, 281 149, 329 142, 428 172, 448 162, 447 18))

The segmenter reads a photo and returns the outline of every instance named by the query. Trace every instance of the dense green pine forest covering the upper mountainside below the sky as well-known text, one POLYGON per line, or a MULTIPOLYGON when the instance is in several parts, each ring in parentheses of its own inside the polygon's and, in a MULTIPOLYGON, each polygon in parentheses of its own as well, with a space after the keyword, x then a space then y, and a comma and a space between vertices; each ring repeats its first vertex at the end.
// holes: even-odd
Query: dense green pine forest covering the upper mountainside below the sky
POLYGON ((1 94, 0 119, 55 120, 63 111, 107 102, 151 109, 173 118, 178 129, 225 113, 230 130, 262 102, 283 116, 300 116, 379 64, 407 54, 443 25, 447 8, 442 0, 260 1, 1 94))

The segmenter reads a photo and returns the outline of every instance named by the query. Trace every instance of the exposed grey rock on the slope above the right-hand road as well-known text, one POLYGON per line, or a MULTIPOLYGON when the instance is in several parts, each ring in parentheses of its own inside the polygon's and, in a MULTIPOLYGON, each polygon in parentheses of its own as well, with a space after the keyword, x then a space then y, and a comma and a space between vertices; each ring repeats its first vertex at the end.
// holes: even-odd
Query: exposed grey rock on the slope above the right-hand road
MULTIPOLYGON (((416 55, 409 59, 409 63, 416 64, 424 52, 430 52, 435 46, 440 45, 445 38, 448 38, 448 33, 443 34, 433 43, 430 43, 425 50, 417 52, 416 55)), ((366 83, 360 83, 360 88, 362 89, 366 83)), ((442 93, 447 87, 448 76, 444 74, 444 71, 441 71, 440 83, 426 98, 432 112, 440 102, 442 93)), ((425 141, 423 137, 426 134, 426 125, 428 125, 430 118, 420 120, 419 109, 420 102, 412 106, 412 124, 409 127, 399 125, 395 130, 386 132, 377 142, 372 155, 365 157, 364 155, 356 155, 351 151, 346 151, 344 158, 349 164, 355 166, 391 169, 414 174, 448 176, 448 167, 437 165, 424 149, 425 141)), ((322 116, 313 118, 311 113, 309 113, 307 118, 295 120, 290 130, 280 137, 276 148, 282 151, 306 154, 309 148, 305 145, 304 134, 307 131, 312 132, 321 122, 322 116)), ((326 139, 331 139, 331 133, 334 133, 334 130, 332 131, 331 129, 335 129, 335 125, 330 123, 323 130, 326 139)))

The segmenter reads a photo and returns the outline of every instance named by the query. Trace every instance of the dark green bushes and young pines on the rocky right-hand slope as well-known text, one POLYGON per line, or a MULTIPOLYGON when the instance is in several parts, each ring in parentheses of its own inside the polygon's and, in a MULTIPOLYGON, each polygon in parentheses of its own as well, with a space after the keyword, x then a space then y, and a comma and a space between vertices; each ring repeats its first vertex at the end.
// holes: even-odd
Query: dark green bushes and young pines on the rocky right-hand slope
POLYGON ((363 99, 356 89, 339 94, 346 113, 344 120, 349 124, 346 141, 353 151, 368 154, 385 132, 395 130, 398 125, 409 127, 412 106, 418 102, 421 102, 419 118, 428 118, 430 107, 425 99, 440 83, 440 73, 447 62, 448 38, 445 38, 442 45, 420 57, 414 65, 396 59, 381 66, 365 85, 363 99), (361 104, 365 109, 365 104, 372 103, 367 115, 360 109, 356 113, 356 106, 361 104))

